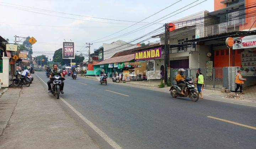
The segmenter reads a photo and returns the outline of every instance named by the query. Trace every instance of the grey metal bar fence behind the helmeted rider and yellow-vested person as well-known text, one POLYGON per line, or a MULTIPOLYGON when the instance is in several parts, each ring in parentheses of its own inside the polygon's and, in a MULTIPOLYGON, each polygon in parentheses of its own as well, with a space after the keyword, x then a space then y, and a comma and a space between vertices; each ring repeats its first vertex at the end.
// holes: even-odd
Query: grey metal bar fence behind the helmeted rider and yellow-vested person
MULTIPOLYGON (((184 75, 194 81, 196 78, 197 68, 185 68, 185 70, 184 75)), ((201 68, 201 73, 204 76, 205 88, 222 88, 222 67, 213 67, 212 69, 201 68)), ((170 69, 170 79, 172 82, 176 82, 175 77, 177 74, 178 69, 170 69)))

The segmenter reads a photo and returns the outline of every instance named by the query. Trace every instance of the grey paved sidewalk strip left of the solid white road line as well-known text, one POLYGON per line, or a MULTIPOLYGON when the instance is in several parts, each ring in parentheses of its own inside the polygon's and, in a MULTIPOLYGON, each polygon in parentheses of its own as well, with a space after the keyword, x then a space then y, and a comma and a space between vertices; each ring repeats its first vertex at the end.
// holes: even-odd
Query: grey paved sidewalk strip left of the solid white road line
POLYGON ((98 148, 55 100, 37 77, 9 88, 0 98, 0 148, 98 148))

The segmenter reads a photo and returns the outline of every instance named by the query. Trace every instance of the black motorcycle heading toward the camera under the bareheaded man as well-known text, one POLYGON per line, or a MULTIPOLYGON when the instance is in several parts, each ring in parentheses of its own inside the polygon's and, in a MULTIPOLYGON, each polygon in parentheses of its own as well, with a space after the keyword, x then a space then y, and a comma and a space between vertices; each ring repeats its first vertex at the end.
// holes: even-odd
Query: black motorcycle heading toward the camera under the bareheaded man
POLYGON ((59 75, 54 75, 51 79, 53 79, 53 83, 51 83, 52 94, 54 96, 57 95, 56 97, 59 99, 60 85, 62 84, 61 81, 65 80, 65 78, 62 78, 59 75))

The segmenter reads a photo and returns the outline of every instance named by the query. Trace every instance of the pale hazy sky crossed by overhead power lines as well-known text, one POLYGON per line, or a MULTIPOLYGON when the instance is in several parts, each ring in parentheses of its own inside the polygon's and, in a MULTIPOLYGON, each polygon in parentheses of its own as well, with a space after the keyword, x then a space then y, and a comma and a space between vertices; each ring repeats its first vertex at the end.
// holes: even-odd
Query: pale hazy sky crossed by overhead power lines
MULTIPOLYGON (((213 11, 214 0, 203 1, 204 0, 0 0, 0 14, 2 14, 0 20, 0 36, 8 38, 10 43, 14 43, 14 35, 20 37, 34 37, 37 43, 33 44, 33 56, 44 54, 47 55, 49 59, 52 59, 55 50, 62 48, 64 39, 67 42, 71 40, 75 43, 75 51, 80 51, 76 52, 77 54, 87 54, 89 49, 86 48, 86 43, 93 43, 90 50, 90 52, 93 53, 93 50, 102 46, 102 43, 112 43, 119 39, 129 42, 132 39, 141 37, 161 27, 164 23, 172 22, 173 20, 203 10, 209 12, 213 11), (191 4, 192 2, 194 3, 191 4), (199 4, 200 2, 202 3, 199 4), (199 5, 194 6, 196 4, 199 5), (186 5, 189 6, 185 7, 186 5), (194 7, 188 9, 191 6, 194 7), (168 8, 165 9, 166 7, 168 8), (181 9, 182 7, 185 8, 181 9), (162 9, 165 10, 159 12, 162 9), (156 14, 153 15, 154 13, 156 14), (166 16, 168 14, 170 15, 166 16), (149 26, 148 23, 154 22, 164 16, 169 18, 165 19, 165 17, 162 21, 159 20, 161 22, 149 26), (141 23, 140 21, 147 23, 141 23), (137 24, 135 24, 136 22, 137 24), (118 37, 143 26, 146 28, 123 37, 118 37)), ((154 42, 159 39, 149 40, 150 42, 154 42)), ((140 40, 138 40, 138 42, 139 41, 140 40)), ((148 43, 148 41, 145 43, 148 43)))

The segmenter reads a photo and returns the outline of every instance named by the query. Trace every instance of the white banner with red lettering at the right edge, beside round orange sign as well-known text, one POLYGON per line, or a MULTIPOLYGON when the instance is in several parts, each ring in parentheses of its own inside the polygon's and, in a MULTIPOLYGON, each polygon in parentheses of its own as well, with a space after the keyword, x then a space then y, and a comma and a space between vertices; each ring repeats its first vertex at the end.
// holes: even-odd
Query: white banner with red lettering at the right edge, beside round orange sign
POLYGON ((256 35, 234 38, 233 49, 256 48, 256 35))

